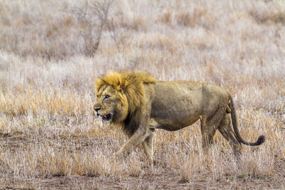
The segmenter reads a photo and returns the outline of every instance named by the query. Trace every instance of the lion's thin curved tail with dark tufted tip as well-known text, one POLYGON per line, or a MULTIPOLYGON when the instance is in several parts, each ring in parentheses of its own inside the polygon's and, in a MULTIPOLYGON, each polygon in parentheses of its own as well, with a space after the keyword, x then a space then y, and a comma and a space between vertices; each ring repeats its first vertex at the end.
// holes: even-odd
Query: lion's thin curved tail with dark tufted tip
POLYGON ((241 134, 239 133, 239 129, 237 128, 237 115, 236 115, 236 110, 234 109, 234 101, 232 100, 231 95, 229 95, 229 97, 230 97, 229 108, 231 108, 231 110, 232 110, 232 112, 231 112, 232 125, 234 127, 234 133, 237 136, 237 140, 239 142, 242 142, 243 144, 247 144, 249 146, 257 146, 257 145, 264 143, 264 141, 265 141, 264 135, 259 136, 259 138, 257 139, 257 142, 247 142, 242 138, 241 134))

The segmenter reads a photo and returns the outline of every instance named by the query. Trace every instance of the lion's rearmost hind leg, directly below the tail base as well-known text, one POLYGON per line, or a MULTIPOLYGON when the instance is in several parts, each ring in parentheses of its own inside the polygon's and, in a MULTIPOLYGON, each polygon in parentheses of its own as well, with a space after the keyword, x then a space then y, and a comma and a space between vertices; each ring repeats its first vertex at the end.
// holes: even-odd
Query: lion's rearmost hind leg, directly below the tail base
POLYGON ((224 115, 224 118, 219 124, 218 130, 219 132, 221 132, 222 136, 227 139, 229 144, 231 144, 232 149, 234 151, 234 155, 238 158, 241 154, 242 146, 238 142, 237 137, 234 133, 234 128, 232 127, 232 120, 229 114, 226 113, 224 115))

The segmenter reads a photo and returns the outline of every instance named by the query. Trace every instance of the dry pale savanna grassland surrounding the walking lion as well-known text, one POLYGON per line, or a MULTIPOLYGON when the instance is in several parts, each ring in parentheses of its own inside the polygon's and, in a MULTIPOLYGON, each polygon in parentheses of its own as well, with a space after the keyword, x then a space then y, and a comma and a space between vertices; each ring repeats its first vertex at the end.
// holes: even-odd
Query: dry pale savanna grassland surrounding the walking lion
POLYGON ((285 189, 284 1, 101 3, 0 1, 0 189, 285 189), (204 155, 197 122, 155 132, 153 171, 141 147, 111 159, 127 139, 93 113, 110 70, 221 85, 266 142, 237 163, 217 132, 204 155))

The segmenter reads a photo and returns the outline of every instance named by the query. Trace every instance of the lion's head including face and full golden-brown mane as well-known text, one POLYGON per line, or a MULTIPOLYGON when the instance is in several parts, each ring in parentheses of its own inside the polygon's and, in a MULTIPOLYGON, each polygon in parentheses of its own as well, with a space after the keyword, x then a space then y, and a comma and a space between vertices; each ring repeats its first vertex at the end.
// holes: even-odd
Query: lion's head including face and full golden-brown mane
POLYGON ((108 73, 96 80, 94 110, 103 121, 123 125, 128 133, 138 127, 145 106, 143 83, 155 83, 152 76, 138 72, 108 73))

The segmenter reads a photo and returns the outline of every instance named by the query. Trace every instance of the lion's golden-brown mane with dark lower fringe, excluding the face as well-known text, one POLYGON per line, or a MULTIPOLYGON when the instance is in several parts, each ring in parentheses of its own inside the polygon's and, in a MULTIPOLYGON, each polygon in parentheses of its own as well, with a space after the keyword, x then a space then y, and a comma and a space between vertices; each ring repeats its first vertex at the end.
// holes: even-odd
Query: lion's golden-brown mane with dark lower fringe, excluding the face
MULTIPOLYGON (((128 116, 122 122, 121 118, 116 118, 113 124, 123 128, 126 134, 131 136, 137 130, 142 110, 145 107, 145 90, 143 84, 155 83, 156 79, 147 73, 140 71, 130 71, 123 73, 108 73, 96 80, 95 89, 98 92, 105 85, 112 86, 115 90, 125 93, 128 102, 128 116), (119 122, 120 121, 120 122, 119 122)), ((118 98, 122 97, 118 95, 118 98)), ((121 102, 124 102, 123 100, 121 102)))

